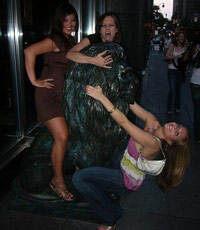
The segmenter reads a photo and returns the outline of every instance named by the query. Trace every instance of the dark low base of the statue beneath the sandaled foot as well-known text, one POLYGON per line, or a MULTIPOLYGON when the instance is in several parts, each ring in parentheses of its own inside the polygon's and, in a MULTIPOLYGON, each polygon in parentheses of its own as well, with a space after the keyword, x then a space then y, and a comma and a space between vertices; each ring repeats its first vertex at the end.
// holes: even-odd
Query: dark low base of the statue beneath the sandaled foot
POLYGON ((9 206, 13 210, 102 224, 78 192, 73 191, 76 197, 74 201, 60 199, 50 187, 40 194, 30 194, 21 188, 18 178, 12 183, 12 191, 9 206))

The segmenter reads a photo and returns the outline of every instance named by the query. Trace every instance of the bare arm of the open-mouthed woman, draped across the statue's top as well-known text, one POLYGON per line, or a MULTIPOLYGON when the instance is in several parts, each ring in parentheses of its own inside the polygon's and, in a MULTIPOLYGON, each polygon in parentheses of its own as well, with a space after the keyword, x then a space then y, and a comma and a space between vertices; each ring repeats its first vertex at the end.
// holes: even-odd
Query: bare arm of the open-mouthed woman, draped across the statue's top
POLYGON ((96 57, 89 57, 80 53, 82 49, 84 49, 89 45, 90 45, 90 40, 88 38, 84 38, 82 41, 80 41, 78 44, 76 44, 68 51, 68 53, 66 54, 66 58, 74 62, 93 64, 96 66, 110 69, 111 67, 107 65, 112 63, 113 60, 111 55, 103 57, 106 51, 99 53, 96 57))

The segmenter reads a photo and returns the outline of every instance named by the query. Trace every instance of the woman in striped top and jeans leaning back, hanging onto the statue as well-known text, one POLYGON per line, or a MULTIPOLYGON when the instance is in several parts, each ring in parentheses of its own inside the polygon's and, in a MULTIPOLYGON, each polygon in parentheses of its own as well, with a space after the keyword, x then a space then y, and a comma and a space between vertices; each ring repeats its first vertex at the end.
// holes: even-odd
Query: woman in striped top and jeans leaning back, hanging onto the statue
MULTIPOLYGON (((131 136, 121 160, 121 170, 92 167, 81 169, 73 176, 77 190, 105 222, 105 225, 100 225, 98 229, 113 230, 122 214, 122 209, 108 193, 119 194, 127 189, 137 191, 146 173, 159 174, 157 181, 163 191, 170 191, 178 186, 190 158, 188 132, 184 126, 175 122, 158 127, 152 130, 152 133, 144 131, 132 124, 120 110, 115 108, 99 86, 87 86, 86 93, 99 100, 113 119, 131 136), (160 152, 162 158, 158 160, 160 152)), ((154 117, 137 103, 130 105, 130 109, 146 123, 154 117)))

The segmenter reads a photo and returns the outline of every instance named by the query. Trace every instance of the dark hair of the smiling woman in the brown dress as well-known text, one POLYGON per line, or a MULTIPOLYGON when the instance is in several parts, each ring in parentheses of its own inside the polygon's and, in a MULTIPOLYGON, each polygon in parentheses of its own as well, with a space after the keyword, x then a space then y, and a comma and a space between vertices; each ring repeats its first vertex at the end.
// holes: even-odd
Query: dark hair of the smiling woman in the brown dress
POLYGON ((63 34, 63 22, 67 15, 74 14, 76 18, 76 27, 75 27, 75 40, 77 41, 78 34, 78 14, 75 8, 70 3, 62 3, 60 4, 55 11, 53 26, 51 29, 51 34, 57 34, 64 38, 63 34))

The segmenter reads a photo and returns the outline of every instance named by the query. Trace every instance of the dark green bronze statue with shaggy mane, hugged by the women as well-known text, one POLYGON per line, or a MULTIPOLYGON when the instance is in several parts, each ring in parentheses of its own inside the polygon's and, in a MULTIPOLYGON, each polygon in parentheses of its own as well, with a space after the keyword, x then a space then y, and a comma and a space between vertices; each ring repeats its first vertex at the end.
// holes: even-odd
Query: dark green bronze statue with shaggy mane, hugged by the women
POLYGON ((121 155, 127 145, 127 133, 101 103, 85 94, 86 85, 100 85, 106 96, 125 114, 129 111, 129 104, 134 103, 139 81, 120 45, 99 43, 85 48, 82 53, 96 56, 104 50, 107 50, 106 55, 112 55, 111 69, 71 62, 66 74, 63 103, 69 128, 67 154, 79 168, 110 167, 112 159, 121 155))

